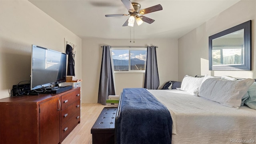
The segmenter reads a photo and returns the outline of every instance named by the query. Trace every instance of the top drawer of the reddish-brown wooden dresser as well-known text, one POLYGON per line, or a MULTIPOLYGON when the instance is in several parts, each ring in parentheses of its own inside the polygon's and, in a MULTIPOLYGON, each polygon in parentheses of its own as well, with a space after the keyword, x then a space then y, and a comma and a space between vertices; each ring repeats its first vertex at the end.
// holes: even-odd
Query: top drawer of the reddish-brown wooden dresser
POLYGON ((61 110, 67 108, 70 104, 80 100, 80 90, 74 90, 61 96, 61 110))

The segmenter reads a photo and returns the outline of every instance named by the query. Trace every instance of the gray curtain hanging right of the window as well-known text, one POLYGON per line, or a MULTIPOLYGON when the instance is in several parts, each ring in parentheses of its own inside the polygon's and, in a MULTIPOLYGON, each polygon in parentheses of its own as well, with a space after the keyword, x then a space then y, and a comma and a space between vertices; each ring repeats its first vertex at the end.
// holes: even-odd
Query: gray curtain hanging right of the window
POLYGON ((156 46, 148 46, 144 88, 157 90, 158 86, 159 76, 156 60, 156 46))

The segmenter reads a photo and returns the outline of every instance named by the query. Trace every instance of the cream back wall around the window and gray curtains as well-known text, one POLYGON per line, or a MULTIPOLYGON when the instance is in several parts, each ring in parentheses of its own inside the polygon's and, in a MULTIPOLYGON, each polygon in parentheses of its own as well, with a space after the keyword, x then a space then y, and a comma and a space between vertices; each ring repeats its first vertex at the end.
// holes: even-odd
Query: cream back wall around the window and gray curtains
MULTIPOLYGON (((107 37, 107 36, 106 36, 107 37)), ((83 38, 82 39, 82 102, 92 103, 98 100, 98 88, 100 81, 100 67, 102 60, 102 48, 100 46, 158 46, 157 62, 162 88, 168 80, 178 80, 178 40, 177 39, 152 39, 130 40, 83 38)), ((123 88, 139 88, 144 86, 144 73, 115 73, 116 95, 123 88)))

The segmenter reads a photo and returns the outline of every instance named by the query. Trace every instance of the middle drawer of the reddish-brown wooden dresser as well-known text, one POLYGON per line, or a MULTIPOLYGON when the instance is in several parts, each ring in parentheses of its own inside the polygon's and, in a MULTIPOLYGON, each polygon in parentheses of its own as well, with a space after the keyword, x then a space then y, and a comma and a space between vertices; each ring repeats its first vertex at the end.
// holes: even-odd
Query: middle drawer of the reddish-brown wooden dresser
POLYGON ((66 123, 76 112, 80 111, 80 100, 77 100, 61 111, 61 124, 66 123))

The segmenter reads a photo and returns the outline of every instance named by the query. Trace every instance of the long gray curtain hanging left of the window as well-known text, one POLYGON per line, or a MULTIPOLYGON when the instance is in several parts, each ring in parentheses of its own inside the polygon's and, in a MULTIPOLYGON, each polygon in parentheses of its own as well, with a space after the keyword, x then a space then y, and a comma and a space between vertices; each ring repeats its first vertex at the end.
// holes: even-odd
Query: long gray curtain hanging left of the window
POLYGON ((103 46, 98 103, 106 105, 106 100, 108 99, 109 95, 116 94, 111 66, 110 46, 103 46))

